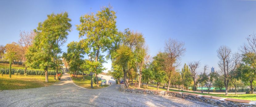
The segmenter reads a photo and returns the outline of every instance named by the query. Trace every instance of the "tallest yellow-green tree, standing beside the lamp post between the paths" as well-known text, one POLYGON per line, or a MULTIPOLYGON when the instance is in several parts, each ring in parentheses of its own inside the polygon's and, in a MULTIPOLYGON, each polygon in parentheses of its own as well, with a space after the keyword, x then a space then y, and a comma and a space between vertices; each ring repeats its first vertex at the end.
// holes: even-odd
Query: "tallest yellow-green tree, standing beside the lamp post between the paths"
MULTIPOLYGON (((116 12, 112 10, 111 6, 103 7, 95 15, 94 13, 83 15, 80 17, 80 22, 80 25, 76 25, 79 38, 86 36, 83 40, 84 46, 88 47, 86 52, 92 51, 91 54, 94 54, 95 62, 97 62, 100 53, 107 51, 115 40, 117 33, 116 12)), ((97 87, 99 87, 96 71, 95 76, 97 87)))

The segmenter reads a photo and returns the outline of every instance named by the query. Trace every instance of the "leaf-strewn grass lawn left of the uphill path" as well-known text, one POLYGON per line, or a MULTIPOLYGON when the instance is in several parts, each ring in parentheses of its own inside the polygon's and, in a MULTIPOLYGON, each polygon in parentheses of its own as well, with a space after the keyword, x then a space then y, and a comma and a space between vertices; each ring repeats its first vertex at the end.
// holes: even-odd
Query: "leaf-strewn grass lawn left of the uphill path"
POLYGON ((0 75, 0 90, 17 90, 17 89, 28 89, 28 88, 39 88, 47 87, 52 85, 58 80, 54 80, 54 76, 48 76, 49 82, 45 82, 45 76, 15 76, 12 75, 9 78, 9 74, 0 75))

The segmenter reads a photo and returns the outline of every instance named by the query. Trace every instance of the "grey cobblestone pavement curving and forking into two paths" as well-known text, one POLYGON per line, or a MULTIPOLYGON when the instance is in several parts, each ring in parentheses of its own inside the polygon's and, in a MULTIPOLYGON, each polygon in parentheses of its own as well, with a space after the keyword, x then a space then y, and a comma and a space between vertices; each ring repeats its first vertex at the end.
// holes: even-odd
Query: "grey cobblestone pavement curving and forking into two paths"
POLYGON ((120 92, 120 85, 91 90, 75 86, 68 74, 63 74, 61 82, 49 87, 27 90, 0 91, 1 107, 209 107, 201 102, 181 98, 161 97, 120 92))

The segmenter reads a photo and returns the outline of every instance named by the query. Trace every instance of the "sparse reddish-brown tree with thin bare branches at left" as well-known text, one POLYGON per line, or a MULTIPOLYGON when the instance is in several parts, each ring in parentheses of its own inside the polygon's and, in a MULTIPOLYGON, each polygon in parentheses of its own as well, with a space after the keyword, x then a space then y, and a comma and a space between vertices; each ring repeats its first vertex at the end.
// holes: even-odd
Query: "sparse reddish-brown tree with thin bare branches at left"
MULTIPOLYGON (((21 46, 21 51, 20 53, 22 54, 22 58, 21 60, 26 62, 26 52, 28 50, 28 48, 32 45, 34 38, 35 38, 35 31, 30 31, 30 32, 26 32, 26 31, 22 31, 20 32, 20 39, 18 40, 18 44, 21 46)), ((28 66, 25 63, 25 71, 24 74, 26 73, 28 66)))

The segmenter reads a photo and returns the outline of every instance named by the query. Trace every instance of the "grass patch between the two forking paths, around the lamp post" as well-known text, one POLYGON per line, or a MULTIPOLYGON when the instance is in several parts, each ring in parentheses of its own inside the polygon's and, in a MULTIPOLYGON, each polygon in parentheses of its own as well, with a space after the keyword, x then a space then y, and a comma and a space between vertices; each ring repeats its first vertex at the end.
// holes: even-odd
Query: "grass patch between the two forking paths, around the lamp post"
MULTIPOLYGON (((78 85, 80 87, 92 89, 91 88, 91 76, 88 76, 88 77, 84 76, 84 80, 83 80, 82 75, 78 75, 78 78, 71 76, 71 78, 76 85, 78 85)), ((103 86, 100 86, 100 85, 101 85, 101 81, 99 81, 99 87, 97 87, 97 85, 93 83, 93 89, 100 89, 103 87, 108 87, 108 85, 103 85, 103 86)))

